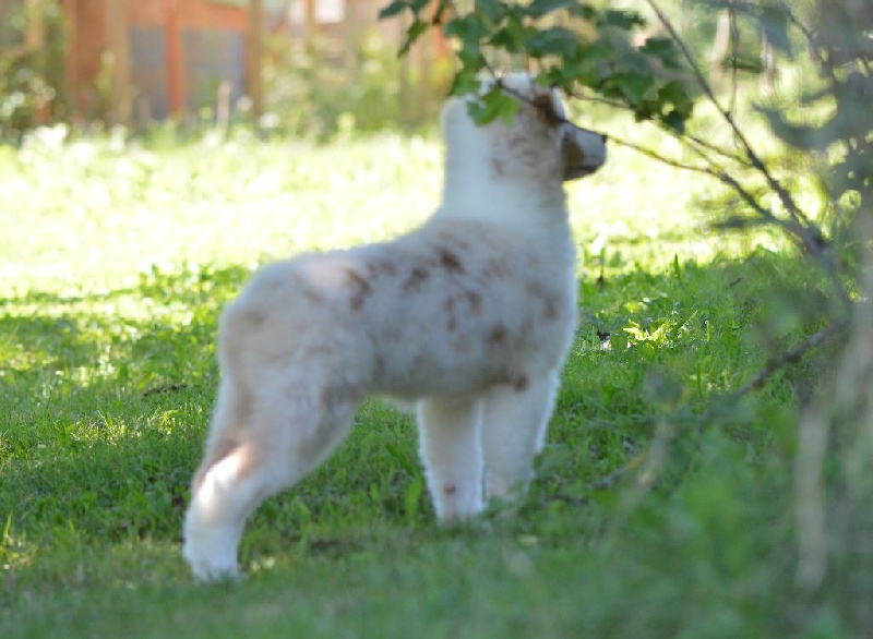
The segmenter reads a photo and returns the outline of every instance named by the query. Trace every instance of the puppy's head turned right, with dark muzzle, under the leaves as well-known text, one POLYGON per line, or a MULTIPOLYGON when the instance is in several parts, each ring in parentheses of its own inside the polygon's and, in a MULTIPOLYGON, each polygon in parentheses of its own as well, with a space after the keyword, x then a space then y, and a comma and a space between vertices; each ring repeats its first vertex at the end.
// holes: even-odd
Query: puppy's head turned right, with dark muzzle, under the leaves
MULTIPOLYGON (((519 100, 515 119, 511 124, 493 121, 477 126, 467 111, 469 98, 450 101, 443 111, 450 158, 454 155, 464 165, 485 164, 494 180, 539 183, 575 180, 603 165, 606 136, 571 123, 557 89, 541 86, 528 74, 506 75, 500 83, 519 100)), ((483 91, 490 88, 486 85, 483 91)))

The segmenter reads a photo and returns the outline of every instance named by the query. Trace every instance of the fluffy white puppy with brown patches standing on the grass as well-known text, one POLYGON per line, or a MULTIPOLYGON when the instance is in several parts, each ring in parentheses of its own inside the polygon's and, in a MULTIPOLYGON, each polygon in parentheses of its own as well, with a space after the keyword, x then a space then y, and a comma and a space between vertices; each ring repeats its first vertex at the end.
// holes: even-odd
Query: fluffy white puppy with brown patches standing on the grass
POLYGON ((367 395, 416 403, 441 521, 530 479, 576 323, 562 182, 597 170, 603 136, 527 75, 514 122, 443 110, 442 206, 393 242, 258 273, 222 319, 222 382, 191 489, 184 557, 232 576, 246 519, 344 439, 367 395))

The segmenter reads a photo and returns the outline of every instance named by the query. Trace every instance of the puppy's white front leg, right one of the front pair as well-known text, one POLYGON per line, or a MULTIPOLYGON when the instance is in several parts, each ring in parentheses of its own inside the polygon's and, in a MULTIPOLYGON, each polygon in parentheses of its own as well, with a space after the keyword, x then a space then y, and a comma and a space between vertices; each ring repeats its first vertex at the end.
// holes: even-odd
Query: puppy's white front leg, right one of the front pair
POLYGON ((494 386, 486 396, 482 446, 486 493, 511 496, 534 473, 534 457, 542 449, 558 393, 557 372, 519 377, 494 386))

